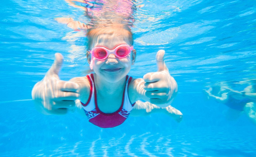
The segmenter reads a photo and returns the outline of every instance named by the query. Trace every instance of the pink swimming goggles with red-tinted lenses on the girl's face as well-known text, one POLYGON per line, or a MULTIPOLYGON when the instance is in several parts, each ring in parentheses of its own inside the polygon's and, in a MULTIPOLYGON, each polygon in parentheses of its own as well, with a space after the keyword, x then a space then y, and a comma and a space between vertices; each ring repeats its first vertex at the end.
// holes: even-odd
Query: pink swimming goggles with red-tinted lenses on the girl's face
POLYGON ((113 50, 109 50, 103 46, 93 47, 92 50, 89 50, 89 52, 92 54, 90 68, 93 68, 94 59, 105 60, 112 53, 118 58, 125 58, 131 53, 132 50, 133 46, 126 44, 118 45, 113 50))

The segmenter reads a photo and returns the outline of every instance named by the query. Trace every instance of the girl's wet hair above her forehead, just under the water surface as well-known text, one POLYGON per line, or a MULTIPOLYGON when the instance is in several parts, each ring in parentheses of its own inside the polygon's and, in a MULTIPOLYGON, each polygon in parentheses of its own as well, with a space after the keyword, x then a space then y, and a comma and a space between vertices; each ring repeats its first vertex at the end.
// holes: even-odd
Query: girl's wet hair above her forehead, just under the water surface
POLYGON ((89 50, 91 44, 95 42, 96 38, 101 35, 109 35, 111 36, 121 36, 123 37, 124 41, 127 41, 129 45, 133 44, 133 35, 131 29, 127 25, 122 24, 115 24, 109 26, 101 26, 97 28, 90 28, 87 31, 87 49, 89 50))

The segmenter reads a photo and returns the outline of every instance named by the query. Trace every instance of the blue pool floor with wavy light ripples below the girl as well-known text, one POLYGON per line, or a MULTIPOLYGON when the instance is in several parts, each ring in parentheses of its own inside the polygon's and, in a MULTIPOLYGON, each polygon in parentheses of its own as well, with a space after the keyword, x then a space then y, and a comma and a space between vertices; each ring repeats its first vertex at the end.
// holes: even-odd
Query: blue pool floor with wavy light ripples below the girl
POLYGON ((0 153, 0 156, 254 156, 253 128, 194 128, 177 132, 99 137, 0 153))

